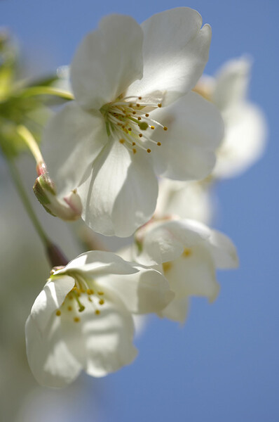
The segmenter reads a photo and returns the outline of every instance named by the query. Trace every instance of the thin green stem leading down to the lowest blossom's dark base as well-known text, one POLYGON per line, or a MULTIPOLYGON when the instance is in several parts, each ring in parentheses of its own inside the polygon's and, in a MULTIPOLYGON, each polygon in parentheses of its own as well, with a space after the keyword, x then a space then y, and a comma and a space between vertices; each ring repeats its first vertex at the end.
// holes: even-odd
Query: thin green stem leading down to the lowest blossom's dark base
POLYGON ((18 193, 20 195, 20 198, 22 200, 23 205, 25 206, 25 210, 27 211, 27 214, 29 215, 29 218, 32 221, 32 224, 34 226, 34 229, 36 230, 37 234, 39 235, 39 238, 41 238, 41 241, 45 248, 49 248, 51 245, 51 241, 49 240, 48 236, 46 235, 45 231, 43 230, 43 227, 41 226, 41 223, 39 222, 39 219, 36 217, 36 214, 32 208, 31 202, 27 196, 27 193, 25 191, 25 187, 22 184, 20 173, 18 172, 17 167, 15 166, 15 163, 13 160, 7 160, 8 167, 11 172, 11 176, 13 178, 13 182, 15 184, 15 187, 18 190, 18 193))

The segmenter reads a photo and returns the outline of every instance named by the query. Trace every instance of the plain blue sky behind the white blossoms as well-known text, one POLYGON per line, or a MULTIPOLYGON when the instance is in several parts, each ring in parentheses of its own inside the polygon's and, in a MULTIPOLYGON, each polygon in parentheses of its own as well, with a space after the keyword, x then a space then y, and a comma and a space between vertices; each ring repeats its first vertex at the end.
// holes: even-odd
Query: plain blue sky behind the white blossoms
POLYGON ((245 174, 217 186, 218 228, 236 243, 240 269, 219 272, 221 292, 213 305, 191 301, 185 326, 151 318, 136 340, 140 354, 135 364, 105 380, 86 378, 89 399, 83 403, 83 421, 92 420, 90 391, 95 394, 97 388, 102 392, 98 394, 104 422, 155 418, 275 422, 279 419, 278 2, 1 0, 0 16, 18 37, 36 73, 68 64, 84 34, 108 13, 130 14, 140 23, 175 6, 195 8, 212 26, 208 74, 243 53, 254 59, 250 98, 266 113, 268 147, 264 158, 245 174))

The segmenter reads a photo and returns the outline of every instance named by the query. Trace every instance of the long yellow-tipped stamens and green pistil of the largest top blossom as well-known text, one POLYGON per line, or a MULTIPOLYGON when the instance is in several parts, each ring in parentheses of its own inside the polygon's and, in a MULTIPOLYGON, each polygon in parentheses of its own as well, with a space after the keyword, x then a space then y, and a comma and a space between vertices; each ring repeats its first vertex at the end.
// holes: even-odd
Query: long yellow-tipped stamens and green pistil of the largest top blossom
POLYGON ((138 148, 151 153, 152 143, 161 146, 161 142, 151 138, 151 131, 156 127, 168 130, 168 127, 149 116, 152 110, 161 107, 161 103, 145 103, 142 97, 119 96, 116 101, 102 106, 100 111, 106 121, 108 136, 114 136, 134 154, 138 148))

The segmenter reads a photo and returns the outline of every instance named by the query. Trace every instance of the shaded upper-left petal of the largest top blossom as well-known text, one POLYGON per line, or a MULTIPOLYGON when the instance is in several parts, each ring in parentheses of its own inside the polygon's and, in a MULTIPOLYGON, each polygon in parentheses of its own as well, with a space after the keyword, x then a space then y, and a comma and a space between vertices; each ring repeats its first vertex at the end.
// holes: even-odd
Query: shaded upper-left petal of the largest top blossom
POLYGON ((99 110, 142 77, 140 25, 130 16, 109 15, 81 42, 71 66, 76 101, 99 110))

